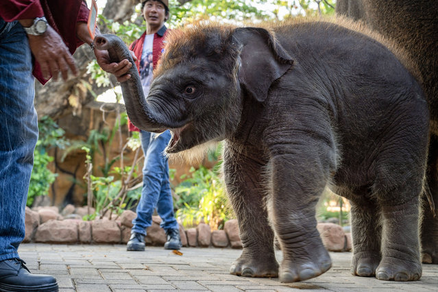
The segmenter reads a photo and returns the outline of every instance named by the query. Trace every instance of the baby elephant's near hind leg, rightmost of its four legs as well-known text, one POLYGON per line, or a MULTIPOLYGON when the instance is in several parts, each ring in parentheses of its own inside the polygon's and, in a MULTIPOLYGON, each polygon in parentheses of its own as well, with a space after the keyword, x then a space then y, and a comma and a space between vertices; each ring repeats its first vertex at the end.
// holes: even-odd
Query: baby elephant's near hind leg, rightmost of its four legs
POLYGON ((418 197, 398 206, 385 205, 382 205, 382 260, 376 269, 376 278, 394 281, 418 280, 422 276, 419 260, 418 197))

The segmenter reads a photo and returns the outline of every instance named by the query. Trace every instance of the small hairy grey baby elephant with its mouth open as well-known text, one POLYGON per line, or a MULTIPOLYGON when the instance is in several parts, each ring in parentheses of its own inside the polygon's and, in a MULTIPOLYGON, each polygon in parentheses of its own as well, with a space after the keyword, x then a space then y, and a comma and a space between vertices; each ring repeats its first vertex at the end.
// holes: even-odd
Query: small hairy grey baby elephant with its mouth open
POLYGON ((201 26, 169 38, 140 102, 147 110, 127 103, 131 121, 170 128, 168 153, 225 139, 224 178, 243 243, 230 273, 295 282, 330 269, 315 219, 329 185, 352 204, 357 274, 419 279, 429 125, 421 88, 363 34, 324 22, 273 30, 276 38, 201 26))

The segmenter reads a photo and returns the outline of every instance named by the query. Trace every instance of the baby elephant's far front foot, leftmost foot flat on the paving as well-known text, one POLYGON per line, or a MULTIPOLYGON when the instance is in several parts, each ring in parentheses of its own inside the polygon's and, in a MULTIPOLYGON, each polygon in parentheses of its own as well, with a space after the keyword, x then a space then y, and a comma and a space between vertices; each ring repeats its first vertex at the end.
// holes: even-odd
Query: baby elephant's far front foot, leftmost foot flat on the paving
POLYGON ((276 278, 278 277, 278 263, 275 256, 252 258, 242 255, 231 265, 230 273, 243 277, 276 278))

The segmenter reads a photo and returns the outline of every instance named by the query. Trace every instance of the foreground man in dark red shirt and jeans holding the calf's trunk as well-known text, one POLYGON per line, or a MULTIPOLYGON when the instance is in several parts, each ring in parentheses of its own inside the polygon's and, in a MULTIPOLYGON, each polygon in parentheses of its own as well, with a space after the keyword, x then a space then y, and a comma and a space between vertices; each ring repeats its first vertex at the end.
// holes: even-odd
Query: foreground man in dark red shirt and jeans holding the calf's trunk
MULTIPOLYGON (((77 74, 71 54, 92 42, 88 12, 79 0, 0 3, 0 291, 58 291, 56 278, 29 273, 17 252, 38 139, 34 77, 45 84, 59 75, 66 80, 69 71, 77 74)), ((95 55, 119 82, 130 77, 127 60, 110 63, 106 51, 95 55)))

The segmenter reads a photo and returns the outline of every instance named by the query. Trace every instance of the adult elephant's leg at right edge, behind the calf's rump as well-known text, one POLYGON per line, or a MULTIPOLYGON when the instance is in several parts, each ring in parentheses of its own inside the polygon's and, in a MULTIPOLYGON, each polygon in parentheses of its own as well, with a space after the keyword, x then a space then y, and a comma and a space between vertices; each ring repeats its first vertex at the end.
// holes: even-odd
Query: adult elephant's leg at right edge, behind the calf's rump
POLYGON ((435 135, 430 137, 427 184, 430 193, 423 193, 420 199, 422 262, 438 264, 438 137, 435 135))

